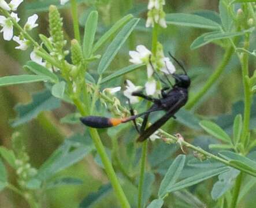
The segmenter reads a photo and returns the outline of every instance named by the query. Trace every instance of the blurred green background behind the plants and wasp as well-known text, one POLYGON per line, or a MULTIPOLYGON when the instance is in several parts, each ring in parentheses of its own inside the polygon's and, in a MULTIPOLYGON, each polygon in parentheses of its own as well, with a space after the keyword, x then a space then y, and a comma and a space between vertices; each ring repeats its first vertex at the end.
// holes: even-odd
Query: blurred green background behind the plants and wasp
MULTIPOLYGON (((39 15, 39 27, 34 29, 34 38, 38 40, 38 34, 49 36, 48 31, 48 14, 47 5, 58 4, 58 1, 25 1, 18 9, 18 16, 21 18, 21 24, 24 24, 27 17, 33 13, 39 15)), ((62 17, 64 17, 64 28, 67 40, 73 39, 73 26, 71 11, 69 5, 60 7, 62 17)), ((142 18, 139 25, 133 31, 124 47, 120 50, 115 60, 112 62, 107 73, 112 73, 116 69, 129 65, 129 50, 135 50, 136 45, 144 44, 150 48, 151 44, 151 28, 144 27, 147 14, 147 1, 132 0, 102 0, 102 1, 80 1, 79 4, 79 21, 80 29, 83 31, 84 23, 91 10, 97 9, 99 12, 99 23, 97 37, 101 36, 113 23, 123 17, 125 14, 132 13, 135 17, 142 18)), ((218 1, 211 0, 191 0, 177 1, 166 0, 164 10, 166 13, 195 13, 199 10, 212 10, 218 12, 218 1)), ((220 63, 223 50, 220 47, 207 44, 197 50, 191 50, 190 45, 193 40, 198 37, 204 29, 195 29, 188 27, 177 27, 169 25, 167 29, 162 29, 159 34, 159 41, 163 44, 165 52, 172 51, 175 57, 184 62, 185 67, 192 79, 191 94, 196 92, 207 80, 213 70, 220 63)), ((255 39, 254 39, 255 40, 255 39)), ((255 41, 254 41, 255 42, 255 41)), ((14 49, 13 41, 6 42, 0 38, 0 76, 18 75, 27 73, 23 69, 25 62, 29 60, 27 51, 19 51, 14 49)), ((69 43, 70 44, 70 43, 69 43)), ((255 43, 251 43, 251 47, 255 49, 255 43)), ((105 49, 103 49, 105 50, 105 49)), ((69 57, 68 57, 69 58, 69 57)), ((254 70, 254 60, 250 62, 251 72, 254 70)), ((97 78, 96 68, 90 66, 92 76, 97 78)), ((106 75, 107 75, 106 73, 106 75)), ((122 86, 124 89, 124 80, 130 79, 136 85, 143 85, 146 80, 146 70, 139 69, 133 73, 125 75, 125 77, 106 83, 102 87, 122 86), (145 79, 138 79, 145 77, 145 79)), ((31 101, 31 94, 43 90, 44 84, 21 84, 18 86, 1 87, 0 88, 0 145, 11 148, 11 135, 14 131, 21 132, 27 152, 31 158, 31 164, 38 168, 49 157, 49 155, 64 141, 65 138, 73 135, 74 132, 83 133, 84 128, 81 125, 60 124, 60 118, 68 113, 75 112, 75 108, 66 103, 62 103, 61 107, 53 112, 43 112, 33 121, 11 128, 9 122, 17 116, 14 106, 17 103, 28 103, 31 101)), ((121 93, 118 93, 121 101, 121 93)), ((196 113, 202 116, 217 117, 224 113, 230 113, 232 103, 239 101, 243 96, 241 70, 238 59, 234 56, 225 69, 225 74, 221 76, 218 83, 203 97, 201 103, 196 106, 196 113)), ((141 109, 140 107, 138 109, 141 109)), ((107 111, 105 108, 101 109, 107 111)), ((175 127, 173 127, 175 128, 175 127)), ((179 129, 184 129, 178 126, 179 129)), ((111 130, 110 130, 111 131, 111 130)), ((109 141, 105 131, 101 131, 103 143, 108 146, 109 141)), ((109 132, 108 132, 109 133, 109 132)), ((111 133, 111 132, 110 132, 111 133)), ((135 133, 133 132, 135 135, 135 133)), ((185 135, 193 138, 193 133, 185 131, 185 135)), ((134 137, 135 140, 135 137, 134 137)), ((121 148, 121 147, 120 147, 121 148)), ((74 176, 84 181, 82 185, 64 186, 55 188, 46 192, 42 198, 44 207, 79 207, 81 200, 88 194, 97 189, 102 184, 107 184, 107 177, 103 170, 94 161, 94 155, 89 155, 76 165, 62 171, 63 176, 74 176)), ((9 180, 14 184, 15 173, 9 170, 9 180)), ((205 203, 207 207, 211 207, 213 200, 210 199, 210 190, 213 181, 208 180, 203 185, 199 185, 198 197, 205 203)), ((155 187, 157 188, 157 186, 155 187)), ((125 183, 125 192, 128 198, 132 200, 135 188, 132 184, 125 183)), ((243 201, 244 207, 255 207, 256 188, 250 192, 246 200, 243 201)), ((0 207, 28 207, 23 198, 14 194, 12 191, 5 190, 0 193, 0 207)), ((93 207, 118 207, 113 192, 107 194, 93 207)), ((167 207, 167 206, 166 206, 167 207)), ((169 206, 175 207, 175 206, 169 206)), ((183 207, 182 205, 177 207, 183 207)))

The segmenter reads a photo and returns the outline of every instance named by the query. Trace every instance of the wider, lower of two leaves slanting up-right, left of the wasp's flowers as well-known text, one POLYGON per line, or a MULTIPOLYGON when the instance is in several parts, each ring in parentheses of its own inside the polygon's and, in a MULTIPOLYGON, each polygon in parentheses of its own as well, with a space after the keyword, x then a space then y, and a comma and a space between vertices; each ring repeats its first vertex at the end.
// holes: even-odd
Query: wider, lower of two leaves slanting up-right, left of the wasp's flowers
POLYGON ((107 69, 107 67, 110 65, 110 62, 114 59, 116 56, 118 50, 120 50, 121 46, 123 46, 125 40, 129 37, 133 29, 138 24, 139 19, 133 18, 130 20, 122 29, 120 32, 118 32, 117 36, 114 38, 112 43, 109 44, 107 47, 105 53, 102 55, 101 61, 98 65, 98 73, 102 75, 103 72, 107 69))

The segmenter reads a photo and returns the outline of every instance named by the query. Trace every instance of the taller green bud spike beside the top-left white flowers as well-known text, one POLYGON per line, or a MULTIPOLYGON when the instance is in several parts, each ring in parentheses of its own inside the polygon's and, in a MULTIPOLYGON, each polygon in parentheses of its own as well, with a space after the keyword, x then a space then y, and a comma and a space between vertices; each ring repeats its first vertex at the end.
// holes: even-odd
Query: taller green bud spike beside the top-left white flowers
POLYGON ((62 54, 62 49, 65 46, 64 34, 62 31, 62 18, 56 6, 51 5, 49 8, 49 27, 50 35, 53 38, 53 44, 59 53, 62 54))

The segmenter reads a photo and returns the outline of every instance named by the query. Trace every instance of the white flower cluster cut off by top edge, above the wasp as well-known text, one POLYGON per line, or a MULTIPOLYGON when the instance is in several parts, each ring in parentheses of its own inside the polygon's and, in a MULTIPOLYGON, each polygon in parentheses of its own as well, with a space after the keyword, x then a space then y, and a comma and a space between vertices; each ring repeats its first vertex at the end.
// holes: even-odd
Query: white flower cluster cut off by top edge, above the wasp
POLYGON ((155 23, 163 28, 167 27, 163 5, 165 5, 165 0, 149 0, 146 27, 154 27, 155 23))

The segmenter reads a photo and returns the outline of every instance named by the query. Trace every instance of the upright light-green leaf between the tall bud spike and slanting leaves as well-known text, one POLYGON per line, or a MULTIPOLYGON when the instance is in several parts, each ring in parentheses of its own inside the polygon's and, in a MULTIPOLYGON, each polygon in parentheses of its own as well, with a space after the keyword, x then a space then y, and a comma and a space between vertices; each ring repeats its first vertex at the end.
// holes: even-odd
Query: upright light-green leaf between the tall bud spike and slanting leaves
POLYGON ((83 53, 84 58, 89 58, 92 53, 92 45, 94 43, 95 33, 98 25, 98 12, 92 11, 84 26, 83 53))

